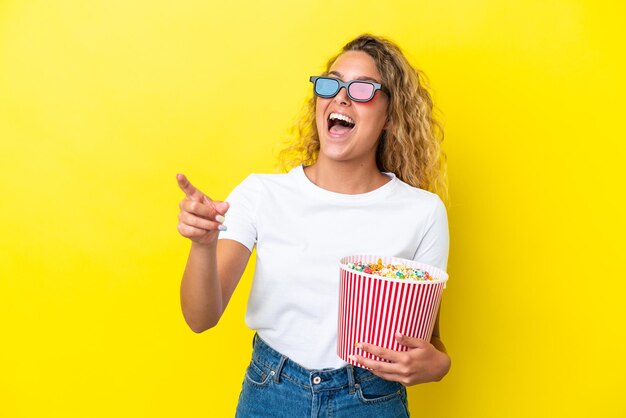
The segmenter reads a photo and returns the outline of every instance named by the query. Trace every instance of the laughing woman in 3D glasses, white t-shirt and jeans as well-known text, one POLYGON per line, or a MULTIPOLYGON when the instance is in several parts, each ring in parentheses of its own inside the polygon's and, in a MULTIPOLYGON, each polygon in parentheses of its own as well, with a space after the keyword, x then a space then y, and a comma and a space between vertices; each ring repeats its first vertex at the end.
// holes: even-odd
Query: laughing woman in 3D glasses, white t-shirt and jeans
POLYGON ((282 154, 302 165, 249 176, 229 203, 177 176, 178 230, 192 240, 183 314, 195 332, 215 326, 256 246, 246 323, 257 334, 237 416, 408 416, 405 386, 450 368, 438 323, 430 342, 396 335, 408 351, 362 343, 387 360, 355 357, 371 371, 346 364, 335 351, 337 261, 380 254, 446 268, 446 211, 433 193, 445 197, 441 131, 420 73, 383 38, 357 37, 310 80, 300 140, 282 154))

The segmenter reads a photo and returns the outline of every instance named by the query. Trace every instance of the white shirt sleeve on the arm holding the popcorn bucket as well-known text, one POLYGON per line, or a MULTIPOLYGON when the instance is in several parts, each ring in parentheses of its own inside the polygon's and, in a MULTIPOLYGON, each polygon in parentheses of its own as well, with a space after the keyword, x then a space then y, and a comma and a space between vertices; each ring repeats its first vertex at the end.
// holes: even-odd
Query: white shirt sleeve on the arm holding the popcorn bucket
POLYGON ((441 199, 437 197, 433 211, 426 225, 424 236, 417 247, 413 259, 446 271, 449 249, 448 214, 445 205, 441 199))

